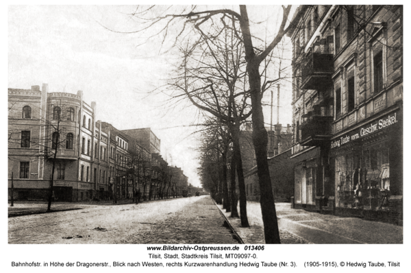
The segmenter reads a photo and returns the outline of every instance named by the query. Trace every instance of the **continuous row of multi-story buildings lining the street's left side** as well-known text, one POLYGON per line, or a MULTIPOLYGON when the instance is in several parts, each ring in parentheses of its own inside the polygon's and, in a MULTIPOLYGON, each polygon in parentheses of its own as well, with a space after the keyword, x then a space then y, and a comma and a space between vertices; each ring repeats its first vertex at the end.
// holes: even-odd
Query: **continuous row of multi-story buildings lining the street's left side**
POLYGON ((47 200, 53 162, 55 201, 162 194, 167 163, 149 128, 128 135, 96 121, 96 103, 86 104, 82 91, 48 93, 47 84, 9 88, 8 104, 9 198, 47 200))

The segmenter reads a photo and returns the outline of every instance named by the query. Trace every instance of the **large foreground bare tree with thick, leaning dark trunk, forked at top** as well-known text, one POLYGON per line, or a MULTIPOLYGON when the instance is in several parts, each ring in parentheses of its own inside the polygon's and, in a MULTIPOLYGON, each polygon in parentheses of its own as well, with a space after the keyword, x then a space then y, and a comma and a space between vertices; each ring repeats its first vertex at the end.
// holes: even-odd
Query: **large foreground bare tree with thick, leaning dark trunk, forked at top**
MULTIPOLYGON (((208 6, 207 6, 208 7, 208 6)), ((216 38, 214 33, 209 33, 210 25, 223 24, 224 27, 232 29, 236 38, 242 43, 245 49, 245 62, 247 72, 247 92, 251 99, 251 120, 253 123, 253 145, 256 151, 256 162, 258 166, 258 181, 260 184, 262 209, 262 219, 264 222, 264 235, 267 244, 280 244, 279 230, 277 224, 277 214, 275 212, 274 196, 269 174, 269 164, 266 158, 268 143, 267 132, 264 127, 264 115, 262 112, 262 81, 260 66, 269 56, 271 51, 282 40, 288 27, 286 27, 291 6, 282 6, 282 14, 279 12, 279 27, 270 43, 264 48, 258 48, 254 44, 256 36, 251 33, 249 15, 246 5, 240 5, 239 11, 234 9, 219 8, 216 10, 205 10, 204 7, 191 6, 189 8, 170 8, 160 6, 160 12, 154 12, 153 6, 138 6, 135 12, 130 14, 139 23, 139 29, 135 32, 150 30, 152 36, 163 34, 164 40, 170 35, 174 35, 177 45, 180 40, 187 39, 190 34, 206 34, 208 40, 216 38), (281 15, 280 15, 281 14, 281 15), (225 23, 225 20, 230 23, 225 23), (190 29, 190 25, 194 28, 190 29), (177 27, 177 29, 175 28, 177 27)), ((164 45, 164 40, 162 45, 164 45)))

